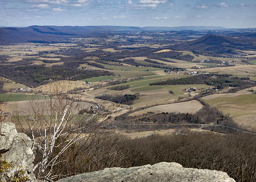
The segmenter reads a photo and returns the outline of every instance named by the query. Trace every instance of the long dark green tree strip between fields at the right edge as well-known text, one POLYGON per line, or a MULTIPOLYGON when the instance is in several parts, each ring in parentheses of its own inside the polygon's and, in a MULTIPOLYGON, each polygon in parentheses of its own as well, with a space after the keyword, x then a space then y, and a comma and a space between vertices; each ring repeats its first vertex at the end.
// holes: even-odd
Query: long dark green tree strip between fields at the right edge
POLYGON ((158 81, 149 85, 193 85, 206 84, 215 86, 216 89, 224 89, 226 87, 241 87, 245 85, 256 85, 256 82, 250 81, 248 77, 231 77, 227 74, 203 74, 195 75, 176 80, 168 79, 166 81, 158 81))

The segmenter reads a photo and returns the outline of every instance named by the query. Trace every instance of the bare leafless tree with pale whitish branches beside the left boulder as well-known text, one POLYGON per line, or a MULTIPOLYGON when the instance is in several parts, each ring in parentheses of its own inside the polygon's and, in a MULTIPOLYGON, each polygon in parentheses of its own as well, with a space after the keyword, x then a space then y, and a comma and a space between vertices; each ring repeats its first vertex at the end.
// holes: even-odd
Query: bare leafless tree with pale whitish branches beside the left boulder
POLYGON ((61 155, 82 139, 84 143, 90 141, 109 117, 99 110, 78 114, 81 108, 89 107, 88 104, 72 101, 60 85, 50 88, 52 90, 44 101, 30 101, 32 109, 25 122, 18 119, 34 142, 33 150, 37 151, 33 171, 45 181, 59 178, 61 174, 53 174, 53 170, 57 164, 65 162, 61 155))

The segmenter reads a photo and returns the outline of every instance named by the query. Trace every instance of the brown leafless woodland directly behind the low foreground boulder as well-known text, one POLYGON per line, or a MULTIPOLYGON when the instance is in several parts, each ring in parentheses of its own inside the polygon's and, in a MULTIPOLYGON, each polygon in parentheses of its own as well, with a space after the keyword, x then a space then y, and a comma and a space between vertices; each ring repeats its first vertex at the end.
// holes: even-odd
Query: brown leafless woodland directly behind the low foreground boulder
POLYGON ((70 147, 54 172, 62 174, 59 178, 63 178, 107 167, 176 162, 183 167, 224 171, 236 182, 256 181, 256 136, 221 136, 185 130, 178 133, 129 139, 102 132, 90 142, 80 141, 70 147))

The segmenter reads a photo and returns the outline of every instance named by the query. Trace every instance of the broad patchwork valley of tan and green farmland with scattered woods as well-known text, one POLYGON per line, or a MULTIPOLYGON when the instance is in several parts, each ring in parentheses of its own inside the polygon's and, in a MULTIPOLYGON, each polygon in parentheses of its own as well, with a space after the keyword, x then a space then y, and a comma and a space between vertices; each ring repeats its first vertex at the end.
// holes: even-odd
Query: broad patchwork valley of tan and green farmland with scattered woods
MULTIPOLYGON (((72 37, 65 43, 2 45, 0 63, 4 69, 0 81, 3 81, 4 94, 0 96, 1 101, 8 100, 4 104, 13 112, 18 107, 26 110, 31 99, 45 106, 45 98, 55 93, 62 99, 82 101, 81 109, 98 104, 104 110, 112 110, 113 116, 128 112, 131 112, 129 116, 148 112, 196 115, 205 107, 196 100, 202 97, 209 105, 230 114, 237 124, 250 131, 256 128, 252 122, 255 108, 253 103, 249 103, 254 101, 254 97, 248 89, 239 88, 235 93, 224 93, 240 86, 254 86, 256 51, 240 50, 239 47, 232 47, 232 54, 211 49, 203 51, 204 46, 208 45, 198 48, 196 41, 208 43, 207 39, 210 38, 218 42, 221 38, 205 35, 196 39, 201 37, 201 33, 196 32, 193 32, 193 39, 184 32, 171 36, 166 32, 146 32, 143 36, 134 32, 123 34, 106 34, 105 37, 100 34, 97 37, 96 33, 93 38, 72 37), (191 49, 192 44, 197 50, 191 49), (189 79, 188 83, 179 82, 182 78, 206 73, 211 82, 195 82, 193 79, 189 79), (224 80, 218 79, 215 83, 216 74, 224 75, 221 78, 224 80), (231 78, 234 83, 230 81, 231 78), (166 80, 171 80, 172 84, 159 84, 166 80), (25 92, 16 93, 20 89, 25 92), (28 91, 29 94, 26 93, 28 91), (136 96, 136 100, 132 105, 114 103, 100 99, 104 94, 120 98, 124 95, 136 96), (248 102, 242 103, 246 100, 248 102), (239 105, 250 105, 252 110, 237 112, 239 105)), ((222 49, 229 48, 224 45, 222 49)))

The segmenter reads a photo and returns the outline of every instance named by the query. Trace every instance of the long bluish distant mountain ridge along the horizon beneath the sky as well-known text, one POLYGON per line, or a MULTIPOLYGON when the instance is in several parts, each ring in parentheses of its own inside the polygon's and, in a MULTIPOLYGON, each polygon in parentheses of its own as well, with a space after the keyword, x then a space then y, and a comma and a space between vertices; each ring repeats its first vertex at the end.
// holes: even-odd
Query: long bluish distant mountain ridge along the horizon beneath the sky
MULTIPOLYGON (((143 31, 229 31, 225 27, 185 26, 185 27, 132 27, 132 26, 30 26, 0 27, 0 43, 54 43, 70 38, 104 37, 115 32, 143 31), (102 34, 104 33, 104 34, 102 34)), ((204 34, 205 35, 205 34, 204 34)), ((249 35, 248 35, 249 36, 249 35)), ((253 35, 254 36, 254 35, 253 35)))

